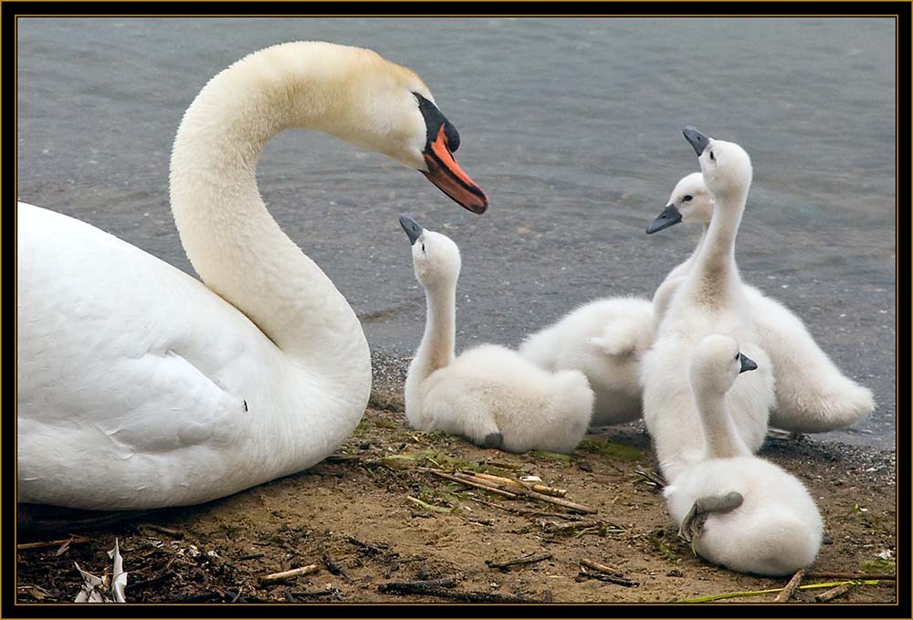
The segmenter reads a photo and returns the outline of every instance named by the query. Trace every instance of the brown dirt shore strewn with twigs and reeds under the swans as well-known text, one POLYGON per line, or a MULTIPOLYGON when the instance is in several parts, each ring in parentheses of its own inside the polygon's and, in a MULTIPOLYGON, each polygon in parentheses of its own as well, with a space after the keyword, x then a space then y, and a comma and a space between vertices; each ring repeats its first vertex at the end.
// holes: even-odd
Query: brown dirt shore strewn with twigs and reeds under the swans
MULTIPOLYGON (((130 523, 20 532, 17 602, 72 602, 82 583, 74 562, 110 573, 115 539, 130 603, 668 603, 788 581, 710 565, 677 539, 643 431, 605 429, 572 456, 484 450, 409 429, 391 387, 375 388, 355 434, 308 471, 130 523), (596 512, 509 498, 429 468, 537 476, 596 512), (524 556, 535 562, 488 565, 524 556), (310 565, 312 573, 260 581, 310 565), (417 581, 425 583, 402 585, 417 581), (422 592, 410 594, 415 588, 422 592)), ((771 437, 761 456, 802 479, 824 516, 825 544, 803 585, 895 572, 894 453, 771 437)), ((833 587, 799 590, 792 602, 814 603, 833 587)), ((896 582, 886 579, 855 584, 830 604, 896 601, 896 582)))

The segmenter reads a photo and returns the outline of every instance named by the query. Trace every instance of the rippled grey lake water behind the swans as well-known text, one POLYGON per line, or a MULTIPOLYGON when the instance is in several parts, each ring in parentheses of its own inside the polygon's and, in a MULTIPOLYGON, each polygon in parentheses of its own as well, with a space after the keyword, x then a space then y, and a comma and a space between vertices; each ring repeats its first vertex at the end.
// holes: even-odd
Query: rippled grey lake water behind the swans
POLYGON ((168 159, 206 80, 297 39, 414 68, 488 193, 477 217, 382 155, 289 131, 259 167, 268 205, 365 323, 411 354, 425 318, 397 216, 463 254, 457 347, 517 345, 590 299, 651 295, 697 231, 644 228, 698 169, 681 128, 754 164, 742 278, 799 314, 876 413, 825 438, 895 446, 896 28, 890 18, 24 18, 18 195, 193 273, 168 159))

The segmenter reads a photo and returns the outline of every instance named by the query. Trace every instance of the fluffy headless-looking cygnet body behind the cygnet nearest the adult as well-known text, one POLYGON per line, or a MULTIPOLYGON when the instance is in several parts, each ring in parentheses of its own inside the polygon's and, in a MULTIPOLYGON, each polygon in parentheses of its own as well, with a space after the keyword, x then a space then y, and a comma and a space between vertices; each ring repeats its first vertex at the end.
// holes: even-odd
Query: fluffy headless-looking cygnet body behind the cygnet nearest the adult
POLYGON ((648 299, 597 299, 528 336, 519 354, 547 371, 582 372, 596 398, 592 424, 624 424, 641 416, 640 363, 655 335, 648 299))

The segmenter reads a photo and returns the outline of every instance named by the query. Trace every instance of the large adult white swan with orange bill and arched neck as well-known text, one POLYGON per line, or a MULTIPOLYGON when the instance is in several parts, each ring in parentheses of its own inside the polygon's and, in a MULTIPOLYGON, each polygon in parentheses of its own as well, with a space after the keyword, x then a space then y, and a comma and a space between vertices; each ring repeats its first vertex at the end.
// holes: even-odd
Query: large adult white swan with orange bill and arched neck
POLYGON ((325 131, 467 209, 456 129, 413 71, 296 42, 210 80, 174 140, 171 203, 205 285, 78 220, 18 210, 17 493, 79 509, 180 506, 319 462, 362 417, 362 327, 257 190, 279 131, 325 131))

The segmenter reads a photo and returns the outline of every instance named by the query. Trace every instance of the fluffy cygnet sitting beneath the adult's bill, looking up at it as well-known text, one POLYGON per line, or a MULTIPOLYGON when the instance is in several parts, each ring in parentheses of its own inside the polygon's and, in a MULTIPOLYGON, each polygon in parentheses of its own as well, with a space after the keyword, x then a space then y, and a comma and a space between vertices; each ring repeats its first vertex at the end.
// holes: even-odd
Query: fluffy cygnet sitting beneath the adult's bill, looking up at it
POLYGON ((509 452, 571 452, 593 414, 586 377, 570 370, 549 373, 494 344, 455 357, 459 249, 411 217, 400 217, 400 225, 427 302, 425 334, 405 381, 409 424, 509 452))

